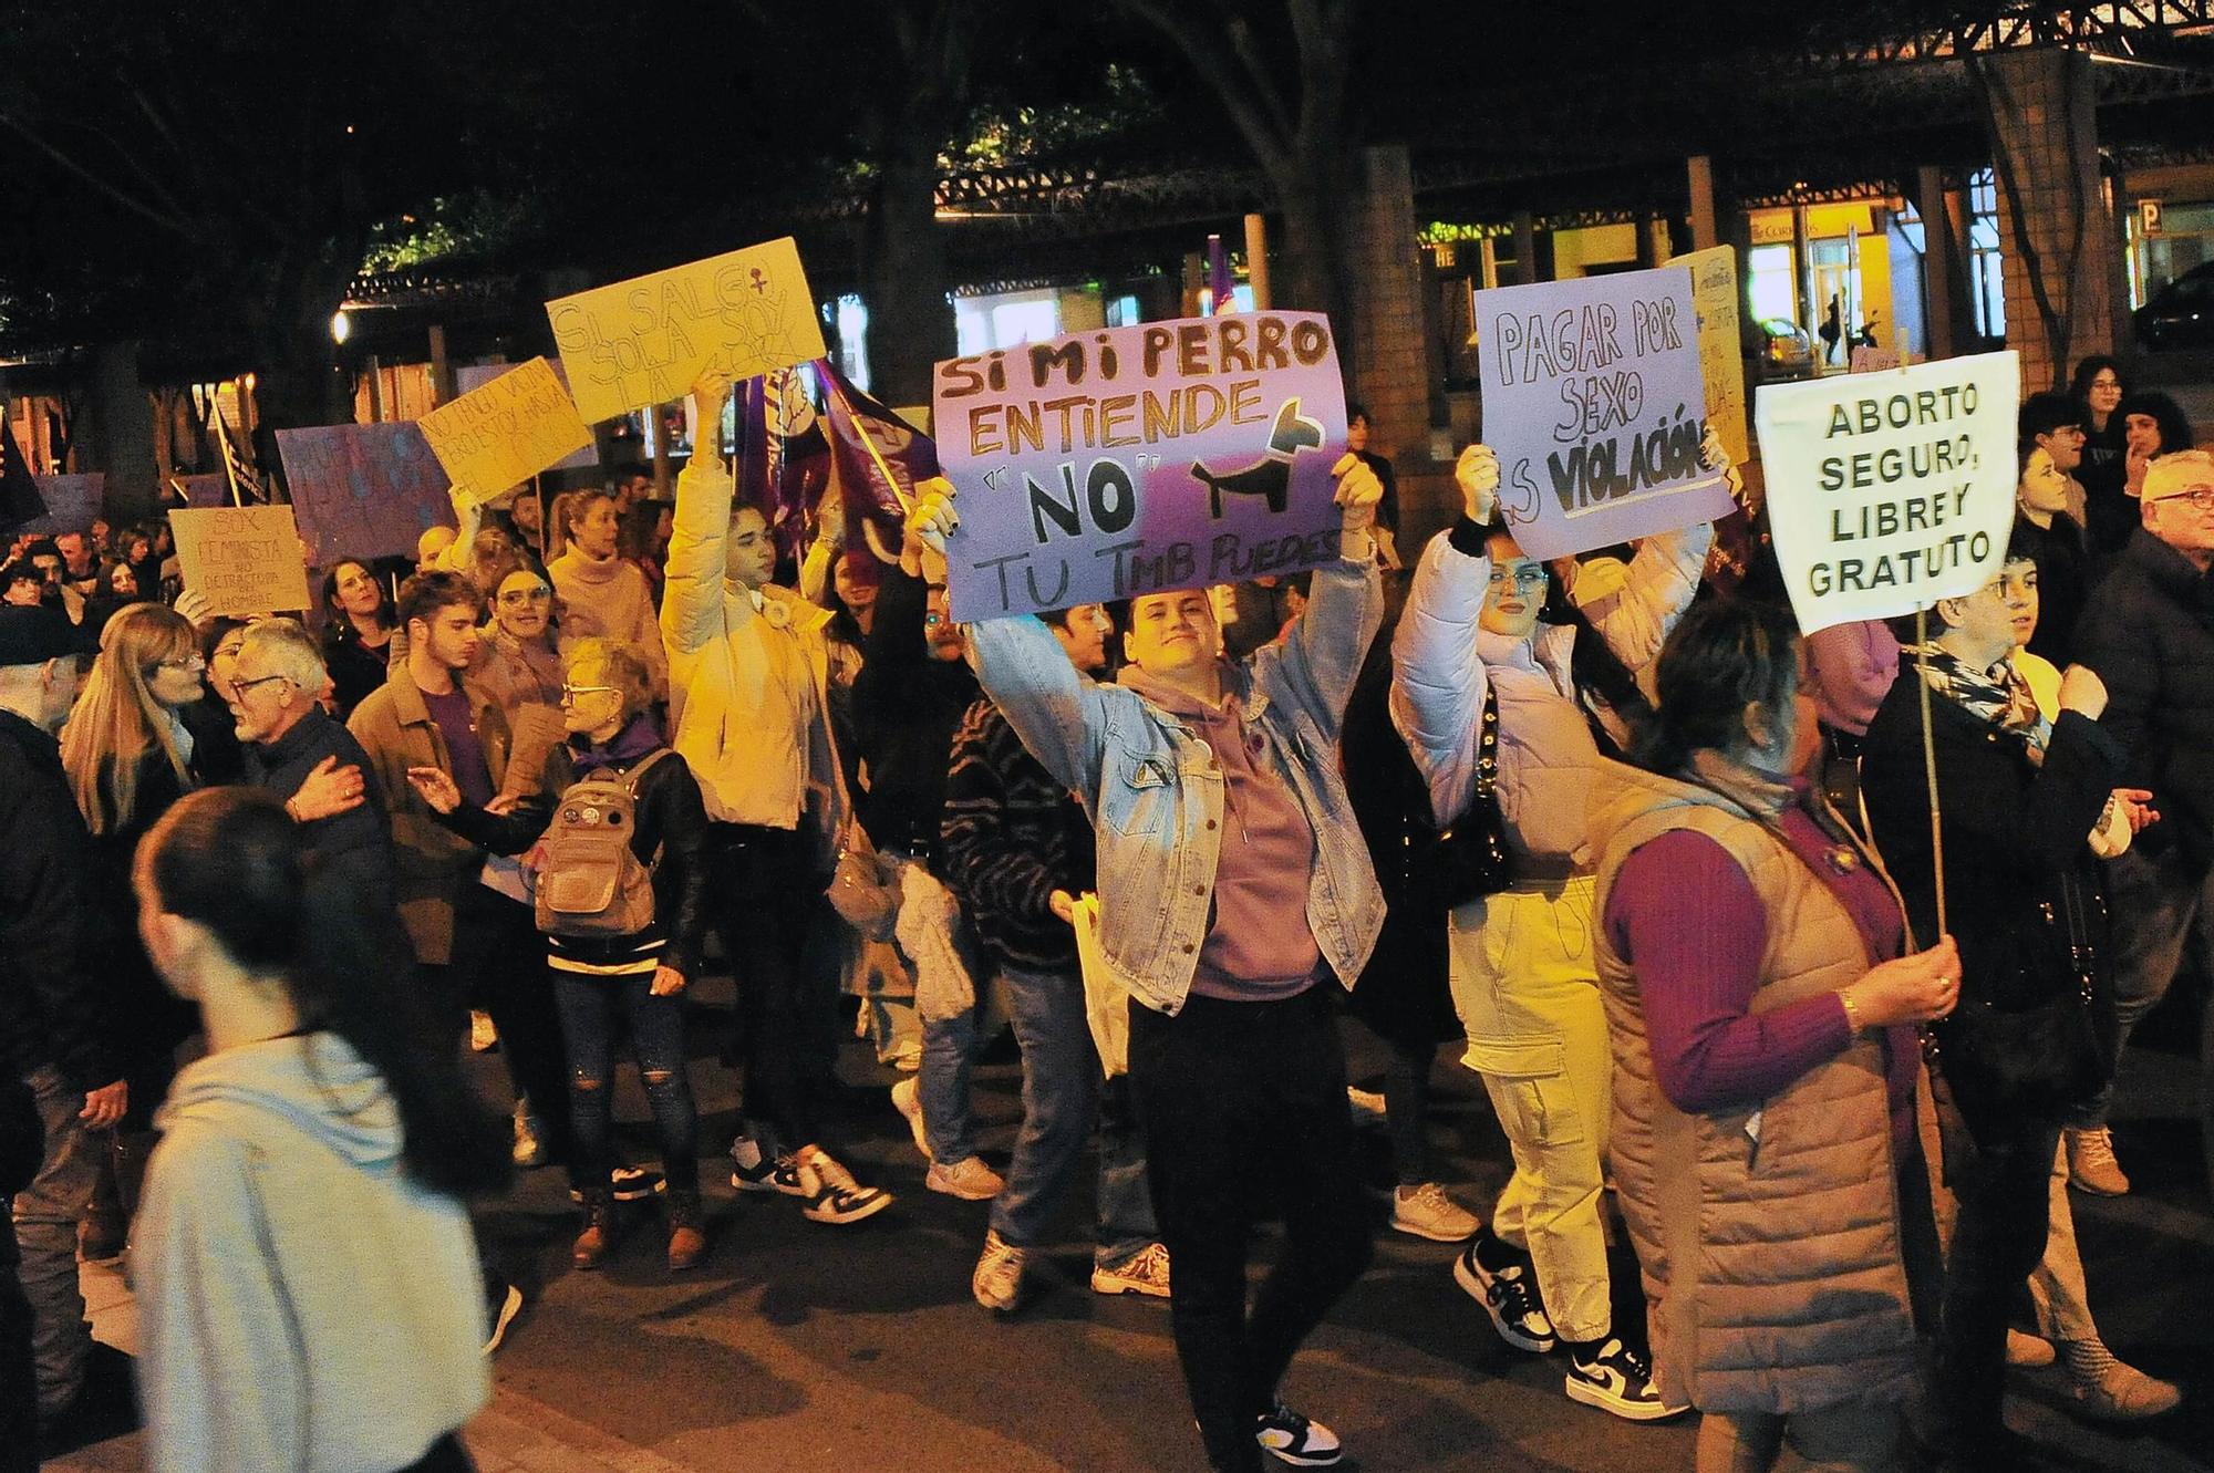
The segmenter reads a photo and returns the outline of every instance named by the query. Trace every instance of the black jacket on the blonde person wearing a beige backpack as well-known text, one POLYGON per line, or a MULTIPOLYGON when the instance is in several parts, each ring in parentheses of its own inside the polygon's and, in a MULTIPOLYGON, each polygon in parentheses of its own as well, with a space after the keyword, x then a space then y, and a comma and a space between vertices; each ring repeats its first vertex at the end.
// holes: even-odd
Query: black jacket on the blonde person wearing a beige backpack
MULTIPOLYGON (((602 772, 624 774, 642 763, 651 752, 631 761, 609 763, 602 772)), ((554 805, 576 781, 569 748, 556 745, 547 752, 540 790, 516 805, 509 814, 487 814, 463 803, 452 814, 436 814, 438 823, 454 829, 472 845, 492 854, 523 854, 536 845, 554 821, 554 805)), ((691 774, 684 759, 669 752, 646 767, 638 781, 635 798, 638 827, 631 829, 631 854, 638 863, 653 865, 653 924, 646 936, 660 933, 662 967, 673 967, 686 978, 700 975, 700 951, 706 944, 706 803, 700 798, 700 779, 691 774), (655 854, 660 863, 655 865, 655 854)), ((635 955, 638 938, 558 938, 560 955, 607 964, 624 955, 635 955)))

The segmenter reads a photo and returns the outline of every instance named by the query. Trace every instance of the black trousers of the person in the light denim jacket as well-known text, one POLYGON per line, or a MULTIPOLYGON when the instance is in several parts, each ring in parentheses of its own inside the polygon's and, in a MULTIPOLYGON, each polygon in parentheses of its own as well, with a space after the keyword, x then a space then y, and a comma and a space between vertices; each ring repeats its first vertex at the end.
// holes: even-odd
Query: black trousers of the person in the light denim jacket
POLYGON ((1215 1469, 1255 1473, 1253 1418, 1373 1252, 1335 1011, 1320 986, 1289 1002, 1191 997, 1176 1017, 1134 1002, 1129 1088, 1191 1411, 1215 1469), (1264 1201, 1282 1208, 1284 1252, 1249 1312, 1264 1201))

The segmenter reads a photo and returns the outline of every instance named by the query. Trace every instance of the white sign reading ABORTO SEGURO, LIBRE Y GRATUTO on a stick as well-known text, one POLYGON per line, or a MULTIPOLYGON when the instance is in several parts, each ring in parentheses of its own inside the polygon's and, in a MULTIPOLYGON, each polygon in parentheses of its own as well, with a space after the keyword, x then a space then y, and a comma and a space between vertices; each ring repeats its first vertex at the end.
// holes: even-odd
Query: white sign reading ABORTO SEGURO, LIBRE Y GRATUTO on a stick
POLYGON ((1769 531, 1800 628, 1889 619, 1999 575, 2019 354, 1762 385, 1769 531))

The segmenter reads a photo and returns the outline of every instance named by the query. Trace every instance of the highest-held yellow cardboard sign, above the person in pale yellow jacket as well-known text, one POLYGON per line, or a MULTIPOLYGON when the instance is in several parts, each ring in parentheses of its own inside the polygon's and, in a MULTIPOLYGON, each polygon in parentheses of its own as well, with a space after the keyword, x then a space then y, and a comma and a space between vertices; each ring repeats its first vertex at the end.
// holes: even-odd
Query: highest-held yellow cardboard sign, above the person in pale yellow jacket
POLYGON ((666 405, 706 367, 733 380, 824 356, 790 237, 547 303, 578 414, 666 405))

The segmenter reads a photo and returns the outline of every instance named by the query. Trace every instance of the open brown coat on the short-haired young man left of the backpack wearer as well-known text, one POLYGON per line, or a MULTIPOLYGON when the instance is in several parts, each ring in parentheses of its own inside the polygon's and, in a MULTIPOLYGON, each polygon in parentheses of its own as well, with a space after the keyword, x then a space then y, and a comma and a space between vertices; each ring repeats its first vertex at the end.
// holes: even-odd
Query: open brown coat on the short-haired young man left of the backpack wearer
MULTIPOLYGON (((463 690, 469 690, 463 686, 463 690)), ((509 717, 483 692, 469 694, 476 739, 485 745, 496 794, 527 796, 538 792, 547 750, 560 743, 560 719, 538 719, 542 708, 518 712, 516 730, 509 717)), ((423 703, 423 690, 407 666, 396 666, 361 706, 345 728, 370 754, 376 783, 392 814, 392 889, 401 922, 414 942, 416 962, 443 967, 454 958, 454 905, 463 885, 474 885, 485 865, 485 852, 441 825, 407 781, 410 767, 454 772, 445 732, 423 703)))

